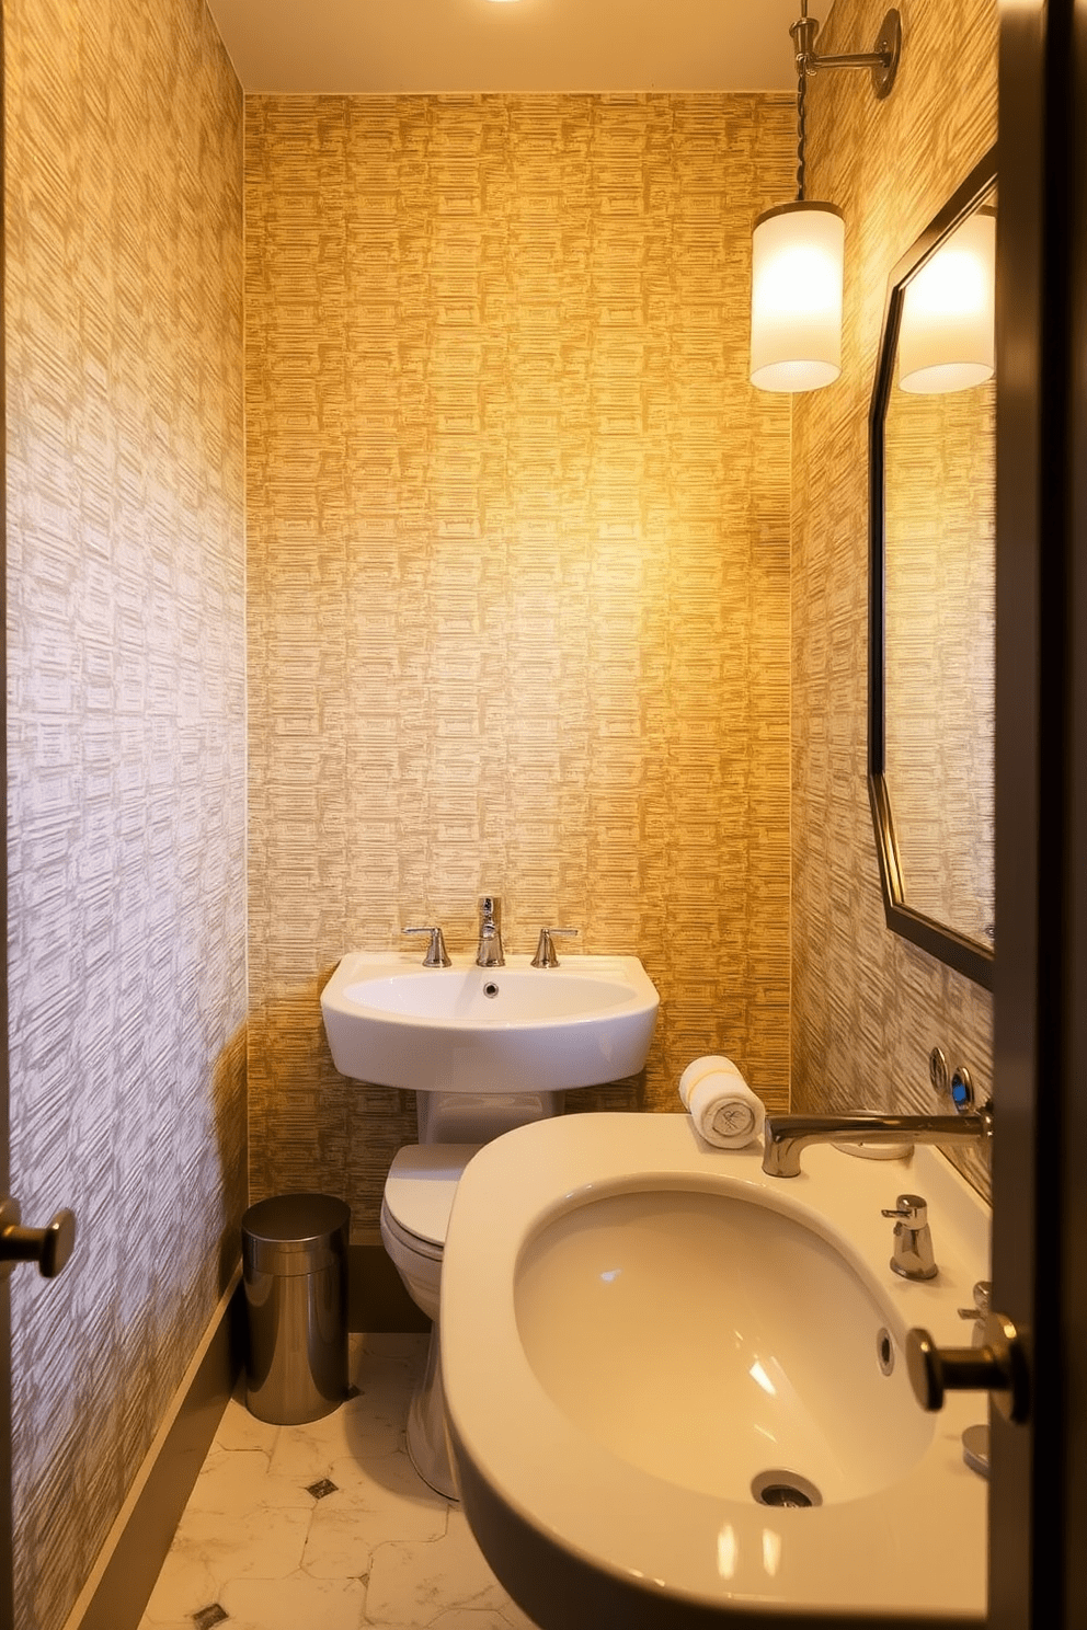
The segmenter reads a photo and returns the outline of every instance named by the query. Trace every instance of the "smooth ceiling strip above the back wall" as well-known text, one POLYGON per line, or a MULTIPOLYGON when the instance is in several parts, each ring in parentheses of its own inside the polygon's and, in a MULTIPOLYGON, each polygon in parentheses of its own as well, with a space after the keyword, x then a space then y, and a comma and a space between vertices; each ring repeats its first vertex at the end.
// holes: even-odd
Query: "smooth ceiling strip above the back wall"
MULTIPOLYGON (((800 0, 207 0, 246 91, 794 90, 800 0)), ((823 20, 830 0, 820 8, 823 20)))

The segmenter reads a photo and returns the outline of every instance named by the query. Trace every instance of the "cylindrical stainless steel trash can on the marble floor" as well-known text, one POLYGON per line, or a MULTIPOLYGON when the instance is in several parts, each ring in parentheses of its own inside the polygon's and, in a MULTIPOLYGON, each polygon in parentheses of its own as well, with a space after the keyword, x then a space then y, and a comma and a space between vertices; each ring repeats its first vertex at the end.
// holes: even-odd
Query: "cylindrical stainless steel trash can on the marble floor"
POLYGON ((277 1426, 331 1415, 347 1394, 350 1208, 277 1195, 241 1219, 249 1324, 246 1403, 277 1426))

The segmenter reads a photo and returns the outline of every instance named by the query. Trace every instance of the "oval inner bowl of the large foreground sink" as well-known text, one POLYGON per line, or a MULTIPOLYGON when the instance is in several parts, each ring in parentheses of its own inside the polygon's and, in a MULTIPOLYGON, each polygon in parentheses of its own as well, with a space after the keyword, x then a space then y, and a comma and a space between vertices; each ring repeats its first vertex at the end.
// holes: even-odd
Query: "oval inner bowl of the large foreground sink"
POLYGON ((932 1441, 906 1366, 877 1363, 890 1314, 807 1222, 748 1195, 650 1188, 562 1211, 525 1247, 513 1306, 567 1420, 683 1488, 748 1500, 792 1467, 820 1500, 856 1500, 932 1441))

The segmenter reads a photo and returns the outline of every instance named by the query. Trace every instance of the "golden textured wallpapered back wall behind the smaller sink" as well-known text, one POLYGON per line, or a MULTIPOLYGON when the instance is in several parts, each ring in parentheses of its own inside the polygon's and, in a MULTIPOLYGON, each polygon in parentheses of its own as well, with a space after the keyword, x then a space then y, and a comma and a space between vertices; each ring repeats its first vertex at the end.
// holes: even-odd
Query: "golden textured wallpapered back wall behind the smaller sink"
POLYGON ((746 383, 782 96, 249 98, 254 1196, 373 1224, 407 1095, 318 993, 476 896, 663 1006, 644 1084, 724 1050, 784 1104, 789 404, 746 383))

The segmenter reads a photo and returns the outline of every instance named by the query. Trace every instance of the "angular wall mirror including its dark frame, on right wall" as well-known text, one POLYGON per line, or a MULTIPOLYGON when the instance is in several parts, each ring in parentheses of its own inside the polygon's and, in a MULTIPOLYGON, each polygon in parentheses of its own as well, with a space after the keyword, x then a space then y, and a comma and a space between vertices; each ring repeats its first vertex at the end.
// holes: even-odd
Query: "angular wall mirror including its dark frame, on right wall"
POLYGON ((992 986, 996 148, 888 280, 870 414, 869 792, 887 923, 992 986))

